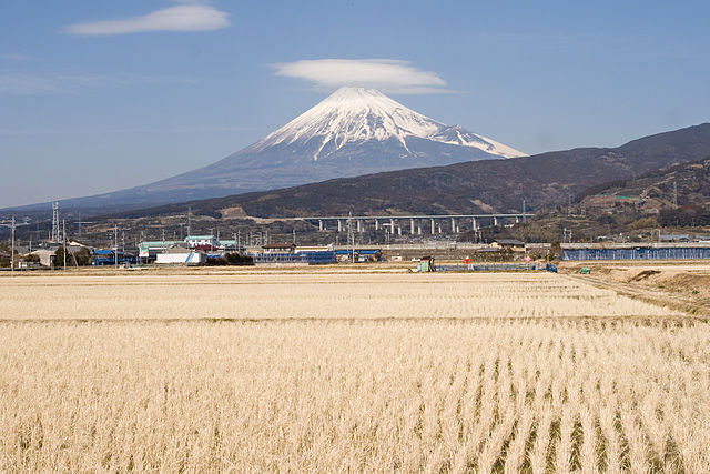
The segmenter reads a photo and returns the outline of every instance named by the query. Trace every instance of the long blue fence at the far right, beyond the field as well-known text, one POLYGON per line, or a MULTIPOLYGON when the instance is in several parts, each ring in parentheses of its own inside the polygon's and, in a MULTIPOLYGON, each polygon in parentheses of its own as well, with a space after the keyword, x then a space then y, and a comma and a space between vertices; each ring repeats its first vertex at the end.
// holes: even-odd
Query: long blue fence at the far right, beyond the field
POLYGON ((710 259, 710 248, 564 249, 560 260, 690 260, 710 259))

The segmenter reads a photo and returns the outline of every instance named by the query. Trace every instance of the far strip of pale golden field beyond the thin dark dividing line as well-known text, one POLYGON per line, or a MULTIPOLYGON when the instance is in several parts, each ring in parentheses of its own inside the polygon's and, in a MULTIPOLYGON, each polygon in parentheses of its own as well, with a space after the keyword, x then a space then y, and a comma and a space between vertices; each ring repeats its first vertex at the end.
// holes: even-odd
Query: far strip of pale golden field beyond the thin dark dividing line
POLYGON ((670 310, 554 274, 53 275, 4 279, 0 285, 1 319, 670 314, 670 310))

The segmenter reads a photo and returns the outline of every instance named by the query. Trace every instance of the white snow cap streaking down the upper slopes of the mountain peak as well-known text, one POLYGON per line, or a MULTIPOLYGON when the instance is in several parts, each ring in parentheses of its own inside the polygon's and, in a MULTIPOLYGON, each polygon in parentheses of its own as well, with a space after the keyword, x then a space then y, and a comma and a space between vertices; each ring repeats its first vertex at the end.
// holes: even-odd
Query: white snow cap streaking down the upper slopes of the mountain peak
POLYGON ((447 127, 407 109, 373 89, 344 87, 314 108, 268 134, 254 149, 310 144, 313 159, 325 158, 348 143, 396 140, 409 154, 408 138, 474 147, 501 158, 523 157, 513 148, 497 143, 463 128, 447 127))

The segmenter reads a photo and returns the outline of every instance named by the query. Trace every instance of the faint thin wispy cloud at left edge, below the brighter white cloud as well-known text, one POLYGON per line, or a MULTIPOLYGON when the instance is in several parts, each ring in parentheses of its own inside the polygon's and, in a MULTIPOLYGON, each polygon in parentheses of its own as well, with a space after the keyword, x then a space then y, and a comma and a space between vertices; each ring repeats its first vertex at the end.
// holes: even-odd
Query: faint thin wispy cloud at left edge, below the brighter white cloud
POLYGON ((87 88, 133 84, 194 83, 189 78, 152 77, 142 74, 0 74, 0 95, 38 95, 72 93, 87 88))

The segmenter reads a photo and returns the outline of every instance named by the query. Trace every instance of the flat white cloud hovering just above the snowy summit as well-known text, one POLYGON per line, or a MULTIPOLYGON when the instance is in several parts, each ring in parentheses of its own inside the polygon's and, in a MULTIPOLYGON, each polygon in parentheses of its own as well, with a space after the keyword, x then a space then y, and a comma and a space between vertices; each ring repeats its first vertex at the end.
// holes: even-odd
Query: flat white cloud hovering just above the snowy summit
POLYGON ((449 92, 436 72, 394 59, 315 59, 274 64, 276 75, 302 79, 322 89, 357 85, 392 93, 449 92))

